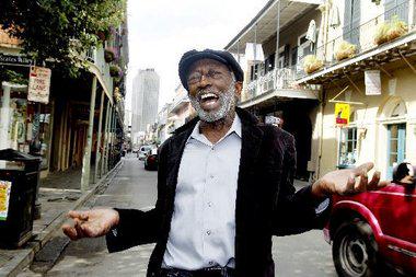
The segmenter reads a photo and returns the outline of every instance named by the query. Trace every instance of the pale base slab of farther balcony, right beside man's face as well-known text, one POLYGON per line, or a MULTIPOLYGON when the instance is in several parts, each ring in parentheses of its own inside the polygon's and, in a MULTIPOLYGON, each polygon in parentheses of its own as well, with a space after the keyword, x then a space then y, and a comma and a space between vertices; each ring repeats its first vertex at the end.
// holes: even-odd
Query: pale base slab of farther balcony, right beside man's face
POLYGON ((274 90, 267 93, 259 94, 247 101, 239 104, 241 108, 247 108, 255 105, 267 105, 268 102, 274 101, 293 101, 293 100, 319 100, 319 91, 313 90, 274 90))

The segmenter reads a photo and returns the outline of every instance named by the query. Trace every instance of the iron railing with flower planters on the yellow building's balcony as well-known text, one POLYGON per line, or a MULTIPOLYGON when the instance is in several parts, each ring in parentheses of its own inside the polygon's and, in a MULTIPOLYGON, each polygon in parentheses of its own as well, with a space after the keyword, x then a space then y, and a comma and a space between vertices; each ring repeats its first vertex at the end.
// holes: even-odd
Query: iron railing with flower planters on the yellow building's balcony
MULTIPOLYGON (((357 27, 344 27, 343 35, 317 47, 315 50, 315 56, 319 60, 323 61, 324 67, 331 67, 339 62, 335 56, 337 54, 339 45, 344 42, 353 44, 356 47, 354 56, 371 50, 378 47, 378 44, 375 43, 375 34, 378 33, 379 28, 382 26, 382 24, 386 24, 394 19, 405 23, 407 25, 407 32, 413 31, 413 26, 411 25, 412 21, 408 0, 384 11, 378 16, 358 25, 357 27), (349 31, 345 32, 347 28, 349 28, 349 31)), ((307 76, 307 73, 301 69, 304 58, 305 57, 299 58, 299 64, 301 67, 300 70, 297 71, 296 79, 300 79, 307 76)))

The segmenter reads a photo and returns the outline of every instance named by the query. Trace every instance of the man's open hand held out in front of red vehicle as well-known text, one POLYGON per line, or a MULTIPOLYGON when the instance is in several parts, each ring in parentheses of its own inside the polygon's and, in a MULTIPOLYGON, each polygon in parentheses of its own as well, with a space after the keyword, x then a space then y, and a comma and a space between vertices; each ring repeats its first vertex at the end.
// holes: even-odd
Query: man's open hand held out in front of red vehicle
POLYGON ((375 191, 390 184, 380 181, 380 172, 375 171, 368 180, 368 172, 374 166, 372 162, 363 163, 356 169, 337 170, 325 174, 312 185, 312 194, 323 198, 333 194, 351 195, 366 191, 375 191))

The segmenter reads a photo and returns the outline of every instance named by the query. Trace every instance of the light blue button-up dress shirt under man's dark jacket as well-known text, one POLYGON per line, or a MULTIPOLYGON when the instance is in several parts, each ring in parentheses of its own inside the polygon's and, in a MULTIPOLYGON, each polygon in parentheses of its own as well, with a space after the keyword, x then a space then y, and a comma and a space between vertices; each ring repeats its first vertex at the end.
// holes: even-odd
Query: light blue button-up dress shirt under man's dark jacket
POLYGON ((240 154, 238 115, 230 130, 215 145, 199 134, 199 123, 195 126, 181 160, 162 267, 234 267, 240 154))

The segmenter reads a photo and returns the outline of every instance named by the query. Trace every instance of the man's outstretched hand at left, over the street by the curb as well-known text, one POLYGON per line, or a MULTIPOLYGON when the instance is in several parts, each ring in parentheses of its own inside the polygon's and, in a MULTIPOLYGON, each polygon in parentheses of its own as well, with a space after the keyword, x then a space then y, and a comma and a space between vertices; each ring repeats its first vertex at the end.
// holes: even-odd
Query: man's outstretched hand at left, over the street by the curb
POLYGON ((73 241, 105 235, 119 221, 118 211, 112 208, 71 210, 68 217, 73 219, 73 224, 63 224, 62 231, 73 241))

